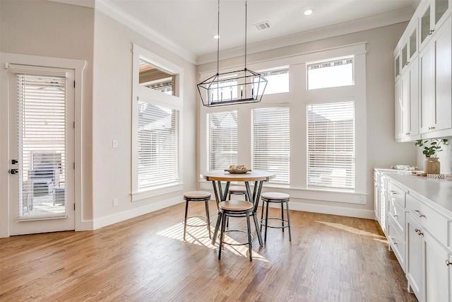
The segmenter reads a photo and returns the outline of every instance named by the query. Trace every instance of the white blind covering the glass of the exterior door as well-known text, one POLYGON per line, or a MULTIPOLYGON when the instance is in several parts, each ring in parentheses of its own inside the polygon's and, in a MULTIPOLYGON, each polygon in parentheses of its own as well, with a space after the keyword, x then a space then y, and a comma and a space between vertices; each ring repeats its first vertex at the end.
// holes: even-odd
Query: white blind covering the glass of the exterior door
POLYGON ((54 193, 64 187, 66 175, 66 77, 16 76, 18 219, 64 217, 64 190, 57 199, 54 193))

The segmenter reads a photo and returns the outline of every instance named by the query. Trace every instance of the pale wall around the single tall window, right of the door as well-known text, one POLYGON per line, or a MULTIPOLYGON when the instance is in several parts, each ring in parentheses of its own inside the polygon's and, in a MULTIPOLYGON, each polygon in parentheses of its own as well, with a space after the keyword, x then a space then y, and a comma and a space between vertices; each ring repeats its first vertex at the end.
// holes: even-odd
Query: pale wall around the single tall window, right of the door
POLYGON ((95 228, 182 202, 182 192, 131 201, 132 43, 184 68, 184 190, 195 190, 195 66, 100 11, 93 66, 93 205, 95 228), (112 148, 112 140, 118 148, 112 148), (118 206, 112 206, 112 199, 118 206))

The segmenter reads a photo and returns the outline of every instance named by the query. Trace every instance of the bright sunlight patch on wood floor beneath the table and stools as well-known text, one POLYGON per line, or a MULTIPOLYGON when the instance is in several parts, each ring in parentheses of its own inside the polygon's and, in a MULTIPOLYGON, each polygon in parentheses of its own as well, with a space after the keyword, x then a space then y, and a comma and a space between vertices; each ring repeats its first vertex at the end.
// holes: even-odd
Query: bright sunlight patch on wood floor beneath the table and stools
MULTIPOLYGON (((210 249, 218 249, 219 238, 217 238, 215 245, 212 245, 212 239, 209 238, 209 232, 207 226, 204 226, 206 221, 199 219, 198 217, 194 217, 189 219, 186 227, 186 236, 185 242, 200 245, 210 249), (188 226, 188 224, 192 226, 188 226)), ((215 226, 210 226, 211 236, 213 236, 213 231, 215 231, 215 226)), ((162 231, 157 232, 157 235, 164 236, 167 238, 172 238, 179 241, 184 241, 184 223, 176 223, 174 226, 170 226, 169 228, 165 228, 162 231)), ((246 236, 244 236, 246 240, 246 236)), ((240 239, 242 240, 242 239, 240 239)), ((240 243, 234 238, 227 236, 225 233, 225 242, 230 244, 223 245, 223 251, 228 250, 235 255, 239 255, 242 257, 248 258, 248 245, 240 245, 240 243)), ((258 246, 258 243, 254 242, 253 248, 258 246)), ((261 260, 267 261, 264 257, 259 255, 254 250, 252 251, 253 260, 261 260)))

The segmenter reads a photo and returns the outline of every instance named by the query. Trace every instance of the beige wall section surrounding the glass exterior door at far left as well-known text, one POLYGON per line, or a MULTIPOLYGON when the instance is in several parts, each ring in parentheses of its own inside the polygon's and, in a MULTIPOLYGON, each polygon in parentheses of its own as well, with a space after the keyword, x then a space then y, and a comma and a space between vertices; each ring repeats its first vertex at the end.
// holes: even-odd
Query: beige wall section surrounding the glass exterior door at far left
MULTIPOLYGON (((83 73, 83 124, 81 127, 83 161, 83 221, 93 219, 91 192, 91 124, 93 95, 94 10, 49 1, 0 1, 0 52, 30 54, 42 57, 79 59, 87 62, 83 73)), ((2 100, 4 101, 4 100, 2 100)), ((0 121, 3 124, 5 121, 0 121)), ((7 124, 7 122, 6 122, 7 124)), ((8 144, 1 137, 1 145, 8 144)), ((0 160, 7 162, 1 153, 0 160)), ((5 171, 1 165, 1 170, 5 171)), ((8 191, 8 183, 0 182, 0 192, 8 191)), ((4 195, 1 195, 4 201, 4 195)), ((7 196, 7 195, 6 195, 7 196)), ((6 197, 7 198, 7 197, 6 197)))

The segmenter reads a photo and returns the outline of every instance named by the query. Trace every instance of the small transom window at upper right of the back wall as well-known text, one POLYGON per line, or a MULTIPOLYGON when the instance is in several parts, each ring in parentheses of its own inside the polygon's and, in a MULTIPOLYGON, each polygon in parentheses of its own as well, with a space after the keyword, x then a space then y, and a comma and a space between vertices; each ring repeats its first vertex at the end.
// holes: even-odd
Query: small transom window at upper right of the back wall
POLYGON ((307 64, 308 89, 353 85, 353 58, 307 64))

